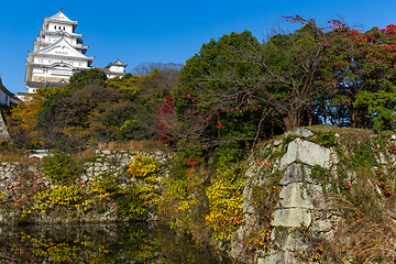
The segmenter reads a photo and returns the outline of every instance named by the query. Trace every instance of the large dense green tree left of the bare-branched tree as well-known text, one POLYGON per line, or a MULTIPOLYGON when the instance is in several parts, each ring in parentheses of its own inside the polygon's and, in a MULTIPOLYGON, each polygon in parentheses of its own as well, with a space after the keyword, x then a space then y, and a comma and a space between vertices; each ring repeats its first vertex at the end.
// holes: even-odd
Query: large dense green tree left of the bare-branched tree
POLYGON ((261 69, 241 62, 238 52, 257 45, 251 32, 232 32, 204 44, 186 62, 173 90, 180 138, 210 147, 254 136, 261 112, 251 87, 261 69))

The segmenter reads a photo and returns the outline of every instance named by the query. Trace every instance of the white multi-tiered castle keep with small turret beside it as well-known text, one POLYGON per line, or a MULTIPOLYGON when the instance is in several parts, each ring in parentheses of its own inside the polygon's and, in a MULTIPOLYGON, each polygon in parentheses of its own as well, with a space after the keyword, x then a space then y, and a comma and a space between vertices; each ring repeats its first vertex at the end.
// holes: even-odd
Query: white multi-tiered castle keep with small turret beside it
MULTIPOLYGON (((62 87, 75 73, 90 69, 94 57, 86 56, 88 46, 82 44, 82 34, 75 33, 78 21, 61 11, 44 18, 43 29, 34 41, 33 52, 28 52, 25 84, 29 92, 40 87, 62 87)), ((119 59, 105 68, 95 67, 108 78, 125 75, 127 64, 119 59)))

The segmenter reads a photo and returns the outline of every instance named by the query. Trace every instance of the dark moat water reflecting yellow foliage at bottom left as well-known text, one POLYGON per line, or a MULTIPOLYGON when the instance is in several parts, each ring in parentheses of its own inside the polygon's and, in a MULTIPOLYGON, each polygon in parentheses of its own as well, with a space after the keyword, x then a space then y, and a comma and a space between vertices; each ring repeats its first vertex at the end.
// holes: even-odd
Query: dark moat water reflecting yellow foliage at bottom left
POLYGON ((160 223, 0 227, 0 263, 230 263, 160 223))

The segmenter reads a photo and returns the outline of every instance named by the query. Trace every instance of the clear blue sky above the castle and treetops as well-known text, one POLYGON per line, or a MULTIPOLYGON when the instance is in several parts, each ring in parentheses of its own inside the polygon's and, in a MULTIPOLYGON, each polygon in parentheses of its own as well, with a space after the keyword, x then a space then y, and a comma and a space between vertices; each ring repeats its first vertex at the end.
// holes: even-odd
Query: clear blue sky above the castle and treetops
POLYGON ((200 0, 200 1, 1 1, 0 75, 12 92, 26 91, 25 58, 44 16, 61 7, 72 20, 79 21, 76 33, 84 34, 95 56, 92 66, 105 67, 119 58, 127 72, 144 62, 180 63, 199 53, 210 38, 249 30, 263 40, 282 15, 316 19, 318 24, 343 16, 349 24, 364 30, 396 24, 396 1, 332 0, 200 0))

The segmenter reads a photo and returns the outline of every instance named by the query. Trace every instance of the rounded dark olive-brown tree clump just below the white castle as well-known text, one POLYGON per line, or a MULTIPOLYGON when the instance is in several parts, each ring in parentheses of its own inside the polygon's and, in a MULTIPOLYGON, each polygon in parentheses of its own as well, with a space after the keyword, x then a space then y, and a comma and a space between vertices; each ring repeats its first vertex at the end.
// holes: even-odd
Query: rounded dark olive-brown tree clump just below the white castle
POLYGON ((88 85, 44 101, 38 114, 43 140, 48 147, 62 150, 81 146, 88 141, 113 140, 125 111, 117 88, 88 85), (120 111, 120 105, 122 110, 120 111), (114 113, 121 112, 121 116, 114 113))

